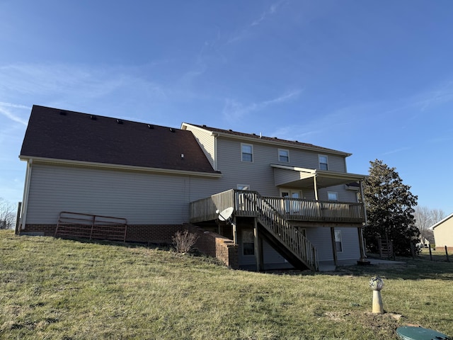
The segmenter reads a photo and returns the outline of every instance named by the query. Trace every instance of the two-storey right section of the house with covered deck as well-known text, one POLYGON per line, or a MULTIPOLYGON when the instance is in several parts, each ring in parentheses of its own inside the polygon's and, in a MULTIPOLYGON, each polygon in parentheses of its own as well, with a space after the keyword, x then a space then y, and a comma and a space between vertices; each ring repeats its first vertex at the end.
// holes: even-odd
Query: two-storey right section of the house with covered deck
MULTIPOLYGON (((181 128, 193 132, 214 170, 222 173, 217 190, 224 191, 191 203, 191 222, 207 228, 211 221, 215 228, 215 215, 198 212, 214 212, 214 207, 205 208, 213 201, 219 210, 232 205, 235 227, 224 229, 239 245, 241 267, 292 268, 300 264, 289 259, 292 255, 275 239, 272 227, 264 226, 261 208, 250 206, 250 210, 243 210, 248 196, 261 207, 268 205, 273 215, 284 220, 283 225, 294 227, 293 232, 308 242, 306 246, 316 249, 316 261, 346 264, 365 256, 362 249, 365 210, 357 202, 365 176, 347 173, 345 159, 350 154, 205 125, 183 123, 181 128)), ((282 229, 287 228, 283 225, 282 229)), ((302 252, 311 250, 304 248, 302 252)), ((303 266, 311 266, 302 262, 303 266)))

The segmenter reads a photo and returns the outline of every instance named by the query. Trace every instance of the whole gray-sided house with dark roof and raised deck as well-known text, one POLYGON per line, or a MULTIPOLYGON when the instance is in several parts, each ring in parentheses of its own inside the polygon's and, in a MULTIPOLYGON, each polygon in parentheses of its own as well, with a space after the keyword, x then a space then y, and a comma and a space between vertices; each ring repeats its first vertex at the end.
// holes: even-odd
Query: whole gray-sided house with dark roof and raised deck
POLYGON ((201 251, 234 268, 355 263, 365 257, 365 175, 347 172, 348 156, 205 125, 33 106, 16 232, 168 243, 188 228, 201 251))

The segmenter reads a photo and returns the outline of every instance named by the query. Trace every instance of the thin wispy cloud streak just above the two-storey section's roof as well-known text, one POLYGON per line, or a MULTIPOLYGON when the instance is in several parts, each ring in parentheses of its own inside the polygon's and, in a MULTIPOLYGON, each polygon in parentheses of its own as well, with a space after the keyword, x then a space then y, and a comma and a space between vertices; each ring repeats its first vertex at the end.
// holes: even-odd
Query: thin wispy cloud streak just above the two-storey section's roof
POLYGON ((286 94, 282 94, 277 98, 270 99, 268 101, 260 101, 258 103, 249 104, 243 104, 239 101, 236 101, 235 99, 226 98, 225 105, 223 108, 223 115, 227 119, 241 118, 245 115, 248 115, 256 111, 262 111, 268 106, 273 106, 278 103, 291 101, 294 98, 297 98, 297 96, 299 96, 299 94, 301 94, 302 91, 303 91, 302 89, 296 89, 293 91, 289 91, 286 94))

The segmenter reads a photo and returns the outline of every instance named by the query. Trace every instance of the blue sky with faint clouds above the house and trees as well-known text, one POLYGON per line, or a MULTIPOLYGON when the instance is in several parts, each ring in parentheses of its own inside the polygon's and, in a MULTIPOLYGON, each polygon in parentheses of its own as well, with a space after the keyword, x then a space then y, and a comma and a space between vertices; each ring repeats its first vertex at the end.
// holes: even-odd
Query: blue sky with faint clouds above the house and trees
POLYGON ((453 1, 0 0, 0 197, 33 104, 299 140, 453 212, 453 1))

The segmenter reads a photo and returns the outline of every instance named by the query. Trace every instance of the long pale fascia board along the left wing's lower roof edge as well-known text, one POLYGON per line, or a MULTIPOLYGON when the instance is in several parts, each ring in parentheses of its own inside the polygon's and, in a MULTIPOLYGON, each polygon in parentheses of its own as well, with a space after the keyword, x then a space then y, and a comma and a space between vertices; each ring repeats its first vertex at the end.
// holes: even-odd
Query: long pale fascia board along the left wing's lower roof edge
POLYGON ((47 163, 47 164, 60 164, 60 165, 73 165, 73 166, 91 166, 93 168, 110 169, 110 170, 125 170, 125 171, 142 171, 154 174, 171 174, 171 175, 183 175, 183 176, 198 176, 198 177, 211 177, 219 179, 222 174, 212 174, 209 172, 200 171, 185 171, 175 169, 162 169, 162 168, 148 168, 146 166, 132 166, 122 164, 107 164, 107 163, 96 163, 96 162, 84 162, 84 161, 72 161, 70 159, 55 159, 55 158, 44 158, 44 157, 28 157, 19 156, 21 161, 28 161, 33 159, 33 162, 47 163))

